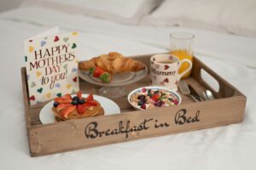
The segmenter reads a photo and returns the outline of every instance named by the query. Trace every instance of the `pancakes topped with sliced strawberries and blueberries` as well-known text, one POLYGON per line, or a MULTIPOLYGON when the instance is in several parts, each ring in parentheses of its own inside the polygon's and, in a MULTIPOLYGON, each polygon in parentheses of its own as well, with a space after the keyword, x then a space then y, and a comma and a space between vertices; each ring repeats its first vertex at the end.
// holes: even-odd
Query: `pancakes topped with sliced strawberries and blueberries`
POLYGON ((55 113, 56 122, 104 115, 101 104, 93 99, 93 95, 89 94, 87 98, 83 98, 81 92, 74 97, 65 94, 60 98, 55 98, 52 111, 55 113))

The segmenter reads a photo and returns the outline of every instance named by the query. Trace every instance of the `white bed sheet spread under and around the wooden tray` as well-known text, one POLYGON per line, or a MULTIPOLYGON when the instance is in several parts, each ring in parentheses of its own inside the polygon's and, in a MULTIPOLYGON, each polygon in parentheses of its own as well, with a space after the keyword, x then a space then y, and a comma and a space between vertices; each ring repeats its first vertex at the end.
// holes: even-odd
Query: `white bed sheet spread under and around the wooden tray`
POLYGON ((256 65, 256 39, 185 28, 124 26, 39 7, 0 14, 0 37, 0 169, 255 168, 256 71, 246 65, 256 65), (32 158, 20 82, 20 67, 25 65, 22 42, 52 26, 79 31, 79 59, 108 51, 159 53, 166 51, 171 31, 193 32, 197 56, 247 95, 244 122, 32 158))

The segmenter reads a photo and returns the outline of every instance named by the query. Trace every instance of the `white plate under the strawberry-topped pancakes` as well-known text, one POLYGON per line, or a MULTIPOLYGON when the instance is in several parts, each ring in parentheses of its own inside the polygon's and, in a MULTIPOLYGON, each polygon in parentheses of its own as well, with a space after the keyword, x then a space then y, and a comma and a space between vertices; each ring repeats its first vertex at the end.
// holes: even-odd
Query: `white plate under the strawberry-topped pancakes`
MULTIPOLYGON (((83 98, 86 98, 88 94, 82 94, 83 98)), ((73 95, 74 96, 74 95, 73 95)), ((119 114, 120 108, 114 103, 111 99, 104 98, 102 96, 93 95, 93 98, 96 99, 104 109, 104 115, 115 115, 119 114)), ((54 100, 50 101, 47 105, 44 105, 39 114, 39 119, 43 124, 55 122, 55 113, 51 110, 54 104, 54 100)))

